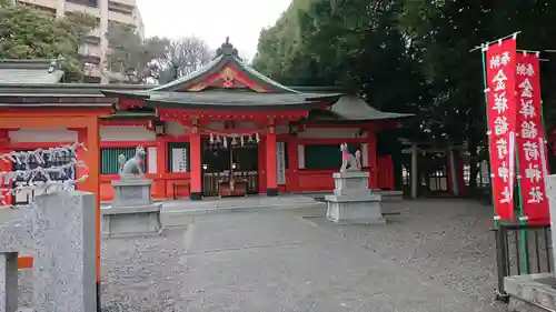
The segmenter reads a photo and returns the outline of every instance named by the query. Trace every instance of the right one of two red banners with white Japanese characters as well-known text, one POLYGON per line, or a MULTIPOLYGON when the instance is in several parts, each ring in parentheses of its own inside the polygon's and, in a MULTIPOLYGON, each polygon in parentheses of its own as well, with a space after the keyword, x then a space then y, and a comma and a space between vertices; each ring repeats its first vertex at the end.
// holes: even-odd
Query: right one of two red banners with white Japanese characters
POLYGON ((546 197, 546 144, 540 114, 539 60, 516 56, 517 151, 524 215, 529 224, 549 224, 546 197))

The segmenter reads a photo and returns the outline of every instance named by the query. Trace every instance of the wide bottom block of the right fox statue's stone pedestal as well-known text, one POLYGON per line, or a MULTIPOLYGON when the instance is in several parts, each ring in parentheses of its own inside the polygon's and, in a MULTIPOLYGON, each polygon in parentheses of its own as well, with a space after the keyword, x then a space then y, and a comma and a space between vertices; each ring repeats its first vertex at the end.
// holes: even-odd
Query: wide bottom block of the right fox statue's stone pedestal
POLYGON ((383 207, 380 195, 368 195, 364 198, 348 198, 327 195, 326 218, 337 223, 350 224, 384 224, 383 207))

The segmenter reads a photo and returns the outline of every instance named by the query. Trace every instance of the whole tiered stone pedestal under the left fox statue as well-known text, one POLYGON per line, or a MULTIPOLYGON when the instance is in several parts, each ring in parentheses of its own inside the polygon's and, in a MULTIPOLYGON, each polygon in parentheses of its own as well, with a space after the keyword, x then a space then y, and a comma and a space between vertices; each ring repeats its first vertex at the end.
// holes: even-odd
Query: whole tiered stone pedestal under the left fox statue
POLYGON ((106 236, 160 234, 161 203, 151 198, 152 181, 139 175, 112 181, 113 201, 102 208, 102 234, 106 236))

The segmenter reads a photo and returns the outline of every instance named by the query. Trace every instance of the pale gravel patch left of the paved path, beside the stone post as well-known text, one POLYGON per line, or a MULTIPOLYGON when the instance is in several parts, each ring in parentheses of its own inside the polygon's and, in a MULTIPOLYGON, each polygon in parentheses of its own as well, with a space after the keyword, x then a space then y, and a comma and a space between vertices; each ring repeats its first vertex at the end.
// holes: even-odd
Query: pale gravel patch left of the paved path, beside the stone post
POLYGON ((162 236, 109 239, 102 244, 102 311, 175 310, 182 298, 187 228, 162 236))

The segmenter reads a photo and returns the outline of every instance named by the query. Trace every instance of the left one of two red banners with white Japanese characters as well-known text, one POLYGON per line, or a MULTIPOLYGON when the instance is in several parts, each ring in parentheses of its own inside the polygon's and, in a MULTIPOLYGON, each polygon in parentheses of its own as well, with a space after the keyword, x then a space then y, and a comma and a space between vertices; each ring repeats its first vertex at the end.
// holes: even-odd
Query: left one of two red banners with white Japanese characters
POLYGON ((486 50, 488 141, 493 201, 498 220, 514 220, 516 39, 486 50))

